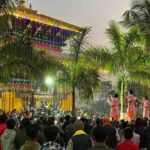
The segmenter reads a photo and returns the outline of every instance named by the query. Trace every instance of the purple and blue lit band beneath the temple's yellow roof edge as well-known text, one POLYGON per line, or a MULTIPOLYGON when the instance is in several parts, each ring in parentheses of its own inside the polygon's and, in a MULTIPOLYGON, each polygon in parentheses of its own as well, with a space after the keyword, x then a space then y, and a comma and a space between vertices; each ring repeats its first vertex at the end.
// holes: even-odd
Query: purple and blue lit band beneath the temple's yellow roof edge
POLYGON ((47 26, 38 22, 31 22, 26 18, 12 17, 12 24, 15 27, 15 34, 22 34, 25 30, 29 30, 32 39, 44 45, 53 45, 56 47, 66 46, 65 41, 76 34, 70 30, 60 29, 57 26, 47 26), (45 26, 45 27, 44 27, 45 26))

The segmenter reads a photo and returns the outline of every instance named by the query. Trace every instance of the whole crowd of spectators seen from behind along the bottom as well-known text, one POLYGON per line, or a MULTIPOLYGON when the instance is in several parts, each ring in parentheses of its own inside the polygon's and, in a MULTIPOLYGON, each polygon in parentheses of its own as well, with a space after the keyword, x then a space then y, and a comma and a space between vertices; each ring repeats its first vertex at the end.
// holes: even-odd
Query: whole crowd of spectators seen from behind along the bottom
POLYGON ((147 118, 0 115, 0 150, 150 150, 147 118))

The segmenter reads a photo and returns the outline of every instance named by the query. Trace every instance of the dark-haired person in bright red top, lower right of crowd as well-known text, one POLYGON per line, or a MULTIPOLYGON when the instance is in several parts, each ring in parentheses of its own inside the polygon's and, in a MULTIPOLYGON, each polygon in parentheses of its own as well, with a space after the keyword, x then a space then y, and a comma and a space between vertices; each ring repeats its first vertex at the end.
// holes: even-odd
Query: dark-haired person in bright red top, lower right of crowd
POLYGON ((135 144, 131 139, 133 137, 133 130, 127 127, 124 130, 125 140, 117 145, 117 150, 139 150, 137 144, 135 144))

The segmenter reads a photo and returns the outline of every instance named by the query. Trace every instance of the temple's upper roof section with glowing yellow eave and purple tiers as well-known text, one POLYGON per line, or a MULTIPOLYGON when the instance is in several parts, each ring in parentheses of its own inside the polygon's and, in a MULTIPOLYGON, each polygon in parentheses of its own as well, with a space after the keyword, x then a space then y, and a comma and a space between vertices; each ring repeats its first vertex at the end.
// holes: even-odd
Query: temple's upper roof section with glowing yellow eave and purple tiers
POLYGON ((83 30, 78 26, 38 14, 31 4, 29 8, 25 7, 24 0, 20 1, 12 14, 11 23, 16 36, 28 31, 36 48, 46 49, 53 56, 60 58, 63 57, 62 49, 67 45, 67 41, 83 30))

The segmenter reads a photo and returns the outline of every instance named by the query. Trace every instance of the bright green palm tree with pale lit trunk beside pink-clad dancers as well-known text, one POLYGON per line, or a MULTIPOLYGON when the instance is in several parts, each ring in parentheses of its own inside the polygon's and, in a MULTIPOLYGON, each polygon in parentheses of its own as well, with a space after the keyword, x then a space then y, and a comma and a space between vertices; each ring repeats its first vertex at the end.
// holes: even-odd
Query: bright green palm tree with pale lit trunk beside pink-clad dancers
POLYGON ((86 52, 88 60, 116 76, 120 83, 121 117, 123 117, 124 95, 129 82, 149 86, 150 55, 145 52, 143 38, 138 28, 134 27, 124 33, 115 22, 111 22, 107 35, 111 48, 92 47, 86 52))

